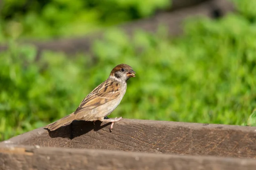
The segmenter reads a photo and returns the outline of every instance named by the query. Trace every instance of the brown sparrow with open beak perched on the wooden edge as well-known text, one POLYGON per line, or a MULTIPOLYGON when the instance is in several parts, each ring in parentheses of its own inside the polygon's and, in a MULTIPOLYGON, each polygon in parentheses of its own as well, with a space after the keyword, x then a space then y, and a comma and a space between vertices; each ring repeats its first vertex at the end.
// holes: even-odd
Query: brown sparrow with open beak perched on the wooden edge
POLYGON ((119 105, 127 88, 127 81, 135 77, 135 72, 127 64, 116 65, 112 69, 108 79, 98 85, 80 103, 75 112, 57 120, 45 129, 56 130, 61 126, 69 125, 73 120, 111 122, 110 131, 113 129, 114 122, 122 120, 122 117, 115 119, 105 119, 119 105))

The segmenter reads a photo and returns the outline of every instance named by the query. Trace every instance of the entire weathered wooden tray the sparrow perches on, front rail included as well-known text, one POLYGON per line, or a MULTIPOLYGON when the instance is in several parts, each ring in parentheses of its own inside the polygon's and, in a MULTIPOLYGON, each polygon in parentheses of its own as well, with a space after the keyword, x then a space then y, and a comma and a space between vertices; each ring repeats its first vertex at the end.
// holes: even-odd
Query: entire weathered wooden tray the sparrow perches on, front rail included
POLYGON ((256 168, 256 127, 124 119, 110 132, 110 125, 74 121, 6 140, 0 143, 0 169, 256 168))

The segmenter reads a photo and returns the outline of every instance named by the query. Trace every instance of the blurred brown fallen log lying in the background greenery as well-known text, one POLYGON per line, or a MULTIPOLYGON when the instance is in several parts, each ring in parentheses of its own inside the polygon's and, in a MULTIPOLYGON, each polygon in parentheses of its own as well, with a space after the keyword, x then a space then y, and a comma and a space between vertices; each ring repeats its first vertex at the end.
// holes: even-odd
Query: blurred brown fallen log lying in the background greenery
MULTIPOLYGON (((188 17, 205 16, 216 18, 234 11, 234 8, 233 3, 229 0, 172 0, 171 10, 172 12, 161 11, 153 17, 125 23, 117 27, 132 35, 138 29, 154 33, 159 25, 164 25, 170 35, 179 35, 183 32, 182 24, 188 17)), ((67 54, 74 54, 76 52, 90 52, 93 41, 102 39, 104 33, 104 31, 99 31, 83 37, 47 42, 28 40, 20 43, 35 45, 38 48, 38 57, 40 57, 43 50, 63 51, 67 54)), ((6 45, 0 45, 0 51, 6 49, 6 45)))

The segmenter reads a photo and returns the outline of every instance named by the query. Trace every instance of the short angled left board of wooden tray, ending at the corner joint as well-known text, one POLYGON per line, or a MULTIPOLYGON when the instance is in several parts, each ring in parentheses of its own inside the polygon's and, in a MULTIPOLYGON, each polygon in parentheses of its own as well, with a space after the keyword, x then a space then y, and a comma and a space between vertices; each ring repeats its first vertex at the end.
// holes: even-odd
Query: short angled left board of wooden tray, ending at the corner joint
POLYGON ((61 127, 51 133, 48 133, 43 128, 38 128, 0 142, 0 146, 5 144, 23 144, 39 145, 41 147, 71 147, 71 136, 70 126, 61 127))

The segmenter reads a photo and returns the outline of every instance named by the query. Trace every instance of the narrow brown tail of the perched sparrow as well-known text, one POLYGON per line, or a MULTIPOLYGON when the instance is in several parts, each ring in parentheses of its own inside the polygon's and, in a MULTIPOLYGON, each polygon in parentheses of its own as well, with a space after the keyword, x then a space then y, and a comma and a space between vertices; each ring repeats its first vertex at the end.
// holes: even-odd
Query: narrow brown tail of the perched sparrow
POLYGON ((61 118, 61 119, 57 120, 56 122, 53 122, 53 123, 45 126, 44 129, 48 129, 51 131, 56 130, 61 126, 69 125, 75 119, 76 119, 76 116, 74 115, 74 112, 73 112, 70 115, 65 116, 64 118, 61 118))

